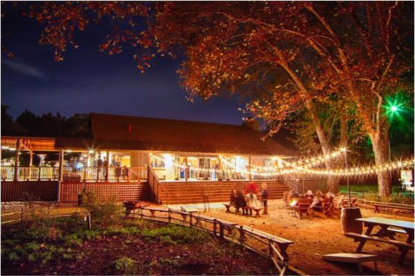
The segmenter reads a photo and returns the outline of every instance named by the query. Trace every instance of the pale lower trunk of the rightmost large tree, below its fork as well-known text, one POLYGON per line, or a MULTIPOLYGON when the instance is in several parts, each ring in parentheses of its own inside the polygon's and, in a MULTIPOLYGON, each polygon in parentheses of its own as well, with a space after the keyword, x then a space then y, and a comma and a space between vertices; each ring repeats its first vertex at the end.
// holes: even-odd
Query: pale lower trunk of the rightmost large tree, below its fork
MULTIPOLYGON (((387 131, 369 135, 375 154, 376 166, 382 166, 389 162, 389 136, 387 131)), ((389 171, 378 173, 379 195, 389 197, 391 195, 392 184, 389 171)))

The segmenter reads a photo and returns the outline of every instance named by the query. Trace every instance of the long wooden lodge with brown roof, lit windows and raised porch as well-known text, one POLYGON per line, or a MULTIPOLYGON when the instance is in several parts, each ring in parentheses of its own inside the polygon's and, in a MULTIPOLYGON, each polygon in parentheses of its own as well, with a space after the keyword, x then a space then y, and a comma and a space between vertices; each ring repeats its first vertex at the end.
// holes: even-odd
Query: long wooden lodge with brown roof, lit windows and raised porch
POLYGON ((91 113, 89 127, 87 138, 1 137, 2 156, 12 151, 15 160, 2 161, 1 200, 73 202, 86 188, 101 200, 219 202, 249 181, 266 181, 270 197, 278 198, 284 179, 255 169, 295 157, 249 125, 91 113), (29 164, 19 166, 24 152, 29 164), (59 158, 32 166, 37 152, 59 158))

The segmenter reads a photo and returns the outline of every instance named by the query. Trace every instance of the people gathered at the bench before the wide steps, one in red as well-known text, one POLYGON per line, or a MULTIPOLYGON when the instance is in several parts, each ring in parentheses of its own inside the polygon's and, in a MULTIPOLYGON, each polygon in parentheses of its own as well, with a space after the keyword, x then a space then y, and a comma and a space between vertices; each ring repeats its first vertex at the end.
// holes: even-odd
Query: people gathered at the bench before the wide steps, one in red
MULTIPOLYGON (((260 198, 262 206, 264 206, 263 215, 268 215, 268 188, 266 183, 261 184, 260 198)), ((237 208, 237 213, 240 213, 239 208, 242 208, 243 215, 252 215, 252 209, 246 210, 245 207, 258 208, 261 204, 257 198, 258 188, 257 185, 251 183, 246 188, 246 194, 239 189, 234 189, 230 192, 230 205, 237 208)))

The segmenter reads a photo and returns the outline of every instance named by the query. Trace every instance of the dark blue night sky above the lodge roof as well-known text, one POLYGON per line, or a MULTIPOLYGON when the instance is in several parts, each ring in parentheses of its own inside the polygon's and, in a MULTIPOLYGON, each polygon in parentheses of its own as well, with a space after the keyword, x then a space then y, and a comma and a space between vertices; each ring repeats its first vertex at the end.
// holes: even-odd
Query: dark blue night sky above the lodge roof
POLYGON ((76 36, 80 48, 68 47, 64 61, 54 60, 51 46, 40 45, 42 26, 23 17, 19 9, 3 6, 2 43, 15 57, 1 53, 1 103, 13 117, 28 109, 37 115, 60 112, 104 112, 192 121, 240 124, 236 99, 190 103, 178 85, 180 60, 158 59, 142 75, 133 61, 133 48, 120 55, 100 52, 98 45, 111 30, 109 24, 90 23, 76 36))

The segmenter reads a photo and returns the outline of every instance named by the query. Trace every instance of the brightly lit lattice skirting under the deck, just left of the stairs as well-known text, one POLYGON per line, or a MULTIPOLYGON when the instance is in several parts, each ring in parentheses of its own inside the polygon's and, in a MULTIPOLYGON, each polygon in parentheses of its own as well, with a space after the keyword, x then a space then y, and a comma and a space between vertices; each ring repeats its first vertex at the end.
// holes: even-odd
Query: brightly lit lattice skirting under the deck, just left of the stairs
POLYGON ((124 200, 148 200, 149 185, 147 182, 70 182, 64 181, 60 188, 61 202, 76 202, 77 195, 86 188, 88 192, 94 193, 99 201, 108 199, 124 200))

